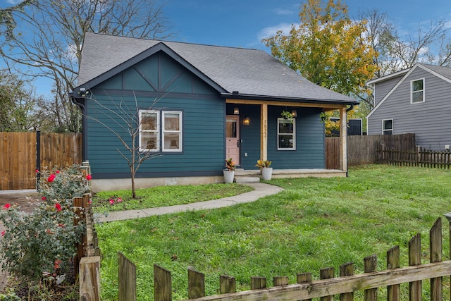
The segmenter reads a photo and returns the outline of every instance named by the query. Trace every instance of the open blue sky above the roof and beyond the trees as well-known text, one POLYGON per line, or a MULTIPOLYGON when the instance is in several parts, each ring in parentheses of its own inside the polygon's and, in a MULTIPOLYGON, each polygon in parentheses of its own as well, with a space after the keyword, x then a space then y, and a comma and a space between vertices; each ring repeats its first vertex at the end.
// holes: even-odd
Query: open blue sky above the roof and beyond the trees
MULTIPOLYGON (((161 0, 163 9, 173 23, 177 42, 244 47, 268 51, 261 39, 278 29, 299 22, 300 0, 161 0)), ((376 8, 388 14, 399 32, 414 34, 420 23, 445 18, 451 27, 450 0, 342 0, 351 18, 359 11, 376 8)), ((0 8, 20 0, 0 0, 0 8)), ((38 92, 49 94, 45 81, 36 83, 38 92)))

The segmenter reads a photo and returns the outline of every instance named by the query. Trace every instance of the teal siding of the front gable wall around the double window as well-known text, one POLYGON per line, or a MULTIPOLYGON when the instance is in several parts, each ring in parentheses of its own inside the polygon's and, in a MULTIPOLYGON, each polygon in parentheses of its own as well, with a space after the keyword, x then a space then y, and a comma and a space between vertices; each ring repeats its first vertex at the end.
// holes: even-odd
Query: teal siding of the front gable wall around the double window
POLYGON ((226 104, 216 91, 165 54, 137 63, 91 92, 96 101, 87 100, 87 159, 94 178, 130 177, 128 164, 118 149, 129 153, 109 130, 131 141, 118 116, 108 110, 115 111, 119 104, 136 111, 136 115, 136 106, 182 112, 182 152, 161 152, 161 156, 144 161, 137 178, 222 174, 226 104))

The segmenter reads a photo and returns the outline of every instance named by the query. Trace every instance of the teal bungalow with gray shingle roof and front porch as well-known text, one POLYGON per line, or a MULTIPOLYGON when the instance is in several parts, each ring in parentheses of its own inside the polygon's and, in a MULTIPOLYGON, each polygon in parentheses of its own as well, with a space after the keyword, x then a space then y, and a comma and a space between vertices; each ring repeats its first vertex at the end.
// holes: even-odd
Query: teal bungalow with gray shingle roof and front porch
POLYGON ((111 113, 118 106, 140 118, 140 151, 161 154, 137 171, 137 187, 144 187, 223 182, 230 157, 241 173, 258 173, 257 160, 268 159, 273 177, 345 176, 346 127, 341 170, 327 171, 321 113, 339 109, 346 121, 346 110, 358 104, 265 51, 94 33, 85 37, 72 97, 84 115, 94 189, 130 182, 113 133, 130 137, 111 113))

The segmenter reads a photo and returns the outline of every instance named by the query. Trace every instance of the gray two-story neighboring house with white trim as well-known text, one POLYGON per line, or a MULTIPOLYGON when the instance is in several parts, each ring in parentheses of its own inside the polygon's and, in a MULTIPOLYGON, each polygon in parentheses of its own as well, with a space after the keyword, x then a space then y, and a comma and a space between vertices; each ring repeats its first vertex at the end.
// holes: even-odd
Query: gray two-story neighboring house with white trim
POLYGON ((431 150, 451 145, 451 68, 416 63, 376 78, 368 135, 414 133, 416 145, 431 150))

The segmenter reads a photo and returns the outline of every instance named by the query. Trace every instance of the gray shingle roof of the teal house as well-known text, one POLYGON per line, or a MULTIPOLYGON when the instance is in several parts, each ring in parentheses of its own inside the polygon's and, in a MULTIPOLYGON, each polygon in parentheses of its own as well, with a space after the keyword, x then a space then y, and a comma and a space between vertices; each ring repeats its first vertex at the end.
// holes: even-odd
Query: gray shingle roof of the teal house
POLYGON ((88 85, 159 43, 223 88, 254 97, 357 104, 357 100, 315 85, 265 51, 87 33, 78 86, 88 85))

